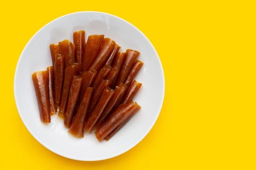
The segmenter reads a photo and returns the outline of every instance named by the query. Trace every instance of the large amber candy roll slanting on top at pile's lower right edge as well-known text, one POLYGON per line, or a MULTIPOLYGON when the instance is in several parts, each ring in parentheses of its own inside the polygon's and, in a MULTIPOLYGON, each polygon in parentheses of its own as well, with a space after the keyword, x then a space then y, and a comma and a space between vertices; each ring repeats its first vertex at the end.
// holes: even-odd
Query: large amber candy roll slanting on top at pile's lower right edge
POLYGON ((117 109, 111 113, 99 128, 94 132, 99 141, 104 139, 112 130, 114 130, 122 121, 126 119, 137 107, 133 101, 126 104, 120 104, 117 109))

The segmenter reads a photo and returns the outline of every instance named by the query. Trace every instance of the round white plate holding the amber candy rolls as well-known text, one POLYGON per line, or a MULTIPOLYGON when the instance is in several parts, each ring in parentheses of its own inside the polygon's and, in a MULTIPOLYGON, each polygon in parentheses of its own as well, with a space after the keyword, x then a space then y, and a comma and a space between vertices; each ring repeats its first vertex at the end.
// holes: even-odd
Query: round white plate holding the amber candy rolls
POLYGON ((14 77, 14 95, 18 112, 25 126, 43 146, 58 155, 75 160, 109 159, 130 150, 151 130, 159 116, 164 99, 164 72, 159 56, 148 38, 135 26, 114 15, 101 12, 77 12, 49 22, 29 40, 22 51, 14 77), (49 44, 73 40, 73 32, 85 30, 88 35, 104 34, 121 46, 120 51, 140 51, 143 67, 135 77, 142 83, 134 101, 141 110, 109 141, 99 142, 85 132, 84 138, 67 132, 63 120, 52 116, 50 124, 40 121, 31 75, 52 65, 49 44))

